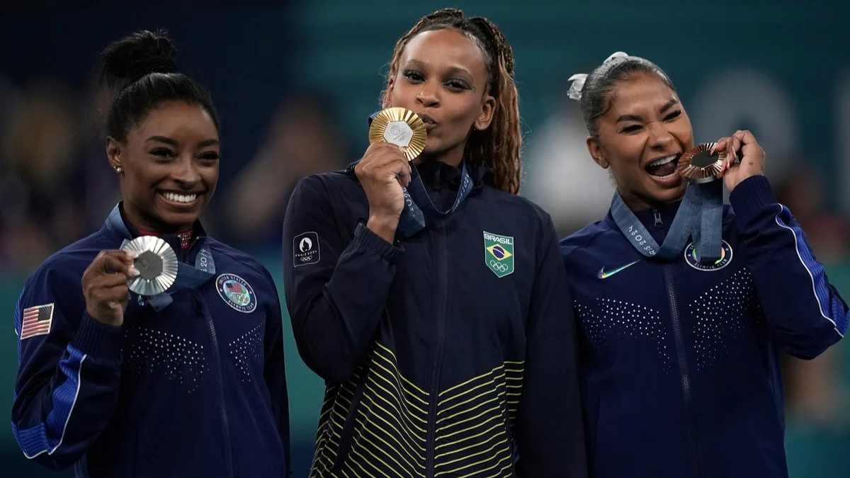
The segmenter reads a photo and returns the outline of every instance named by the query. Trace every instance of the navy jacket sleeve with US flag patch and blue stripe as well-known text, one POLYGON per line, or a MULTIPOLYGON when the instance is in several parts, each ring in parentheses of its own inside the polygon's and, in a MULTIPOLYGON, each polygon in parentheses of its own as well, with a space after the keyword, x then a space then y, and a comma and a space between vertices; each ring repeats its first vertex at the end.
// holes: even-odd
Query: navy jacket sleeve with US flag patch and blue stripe
POLYGON ((65 469, 88 452, 118 397, 123 328, 88 316, 79 290, 78 278, 42 266, 15 310, 12 431, 26 458, 50 469, 65 469))

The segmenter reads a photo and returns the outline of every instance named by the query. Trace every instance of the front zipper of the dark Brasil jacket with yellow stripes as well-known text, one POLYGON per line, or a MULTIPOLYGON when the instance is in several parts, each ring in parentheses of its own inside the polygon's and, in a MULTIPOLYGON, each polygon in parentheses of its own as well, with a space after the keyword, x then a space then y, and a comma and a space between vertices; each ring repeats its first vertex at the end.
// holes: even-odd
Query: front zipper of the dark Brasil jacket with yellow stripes
POLYGON ((449 293, 447 268, 448 264, 445 259, 445 223, 440 221, 435 224, 435 229, 439 231, 437 235, 438 247, 436 263, 439 270, 437 284, 440 287, 439 303, 434 310, 438 311, 437 316, 437 353, 434 356, 433 375, 431 378, 431 403, 428 409, 428 442, 426 448, 425 460, 425 476, 432 478, 434 475, 434 442, 436 441, 437 428, 437 400, 439 399, 439 373, 443 367, 443 350, 445 349, 445 309, 447 303, 447 295, 449 293))

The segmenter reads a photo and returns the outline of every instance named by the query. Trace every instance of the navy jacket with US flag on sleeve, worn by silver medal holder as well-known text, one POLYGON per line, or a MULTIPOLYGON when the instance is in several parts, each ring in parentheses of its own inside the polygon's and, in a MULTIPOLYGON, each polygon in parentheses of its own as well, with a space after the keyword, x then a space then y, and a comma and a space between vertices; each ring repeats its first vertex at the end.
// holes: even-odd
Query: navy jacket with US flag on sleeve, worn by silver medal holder
POLYGON ((81 277, 101 250, 137 236, 116 212, 48 258, 14 311, 21 450, 78 477, 286 476, 283 331, 268 271, 200 225, 191 248, 163 236, 190 264, 208 248, 212 279, 160 312, 131 293, 123 326, 102 324, 86 313, 81 277))

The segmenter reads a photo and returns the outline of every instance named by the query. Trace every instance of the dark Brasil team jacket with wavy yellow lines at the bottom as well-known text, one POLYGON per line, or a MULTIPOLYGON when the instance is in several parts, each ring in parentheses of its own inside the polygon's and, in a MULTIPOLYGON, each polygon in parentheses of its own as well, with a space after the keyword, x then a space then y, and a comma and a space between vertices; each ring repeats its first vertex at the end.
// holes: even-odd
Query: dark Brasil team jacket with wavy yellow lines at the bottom
MULTIPOLYGON (((419 168, 436 204, 459 170, 419 168)), ((575 323, 540 208, 486 185, 393 244, 353 174, 303 179, 284 225, 298 350, 326 380, 313 477, 586 475, 575 323), (519 457, 519 458, 518 458, 519 457)))

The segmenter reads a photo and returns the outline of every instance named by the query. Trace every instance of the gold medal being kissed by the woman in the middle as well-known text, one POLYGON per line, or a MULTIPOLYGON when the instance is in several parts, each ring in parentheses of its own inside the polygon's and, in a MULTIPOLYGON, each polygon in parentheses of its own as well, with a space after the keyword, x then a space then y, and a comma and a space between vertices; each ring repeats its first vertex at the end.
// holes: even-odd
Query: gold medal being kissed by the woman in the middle
POLYGON ((387 108, 380 111, 369 125, 369 144, 392 143, 413 161, 425 149, 428 133, 422 118, 405 108, 387 108))

